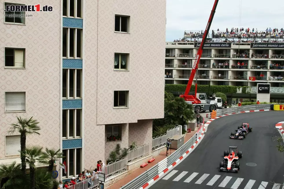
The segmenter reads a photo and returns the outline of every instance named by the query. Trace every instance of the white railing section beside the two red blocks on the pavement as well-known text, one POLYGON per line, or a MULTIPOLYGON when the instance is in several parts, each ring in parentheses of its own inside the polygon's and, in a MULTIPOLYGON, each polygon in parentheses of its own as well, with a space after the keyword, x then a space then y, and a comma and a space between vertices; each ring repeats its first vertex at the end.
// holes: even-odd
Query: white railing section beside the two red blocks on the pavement
POLYGON ((127 151, 127 161, 132 162, 136 159, 150 155, 150 143, 142 144, 139 147, 127 151))

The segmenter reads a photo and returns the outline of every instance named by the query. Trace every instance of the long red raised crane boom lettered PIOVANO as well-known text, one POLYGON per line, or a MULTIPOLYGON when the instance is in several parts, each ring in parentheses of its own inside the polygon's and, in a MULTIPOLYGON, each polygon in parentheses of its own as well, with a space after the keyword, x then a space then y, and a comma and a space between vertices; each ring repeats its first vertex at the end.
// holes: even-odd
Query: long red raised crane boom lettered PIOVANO
MULTIPOLYGON (((203 37, 202 37, 202 41, 201 41, 201 44, 200 44, 200 47, 199 47, 199 49, 197 51, 197 54, 196 54, 196 57, 195 57, 195 60, 194 60, 194 63, 193 63, 192 71, 191 71, 191 74, 190 74, 190 77, 189 77, 189 80, 188 80, 188 83, 187 83, 184 95, 188 95, 188 93, 190 91, 190 88, 192 86, 192 81, 193 81, 195 72, 198 69, 198 64, 199 64, 199 61, 200 61, 200 58, 201 58, 201 55, 202 55, 202 52, 203 52, 203 48, 204 48, 204 45, 205 45, 206 37, 207 37, 208 32, 210 30, 210 26, 211 26, 211 23, 212 23, 212 20, 213 20, 215 11, 216 11, 216 7, 217 7, 217 4, 218 4, 218 1, 219 0, 215 0, 215 2, 214 2, 214 6, 213 6, 213 9, 211 11, 208 23, 206 25, 206 28, 205 28, 205 31, 204 31, 204 34, 203 34, 203 37)), ((196 85, 197 85, 197 83, 196 83, 196 85)))

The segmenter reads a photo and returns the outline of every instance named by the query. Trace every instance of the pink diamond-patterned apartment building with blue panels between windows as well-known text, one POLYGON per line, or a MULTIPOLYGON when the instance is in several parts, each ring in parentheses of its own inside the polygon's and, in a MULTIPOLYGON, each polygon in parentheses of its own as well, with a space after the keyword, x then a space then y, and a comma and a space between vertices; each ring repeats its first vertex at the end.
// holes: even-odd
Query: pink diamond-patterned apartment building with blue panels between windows
MULTIPOLYGON (((3 7, 38 4, 2 2, 3 7)), ((7 134, 9 123, 33 116, 41 135, 29 136, 27 143, 60 148, 68 171, 57 170, 64 180, 95 168, 118 143, 152 143, 152 119, 162 118, 164 109, 166 5, 154 0, 42 4, 53 10, 5 12, 26 15, 11 19, 3 9, 0 16, 5 144, 0 163, 20 161, 19 135, 7 134)))

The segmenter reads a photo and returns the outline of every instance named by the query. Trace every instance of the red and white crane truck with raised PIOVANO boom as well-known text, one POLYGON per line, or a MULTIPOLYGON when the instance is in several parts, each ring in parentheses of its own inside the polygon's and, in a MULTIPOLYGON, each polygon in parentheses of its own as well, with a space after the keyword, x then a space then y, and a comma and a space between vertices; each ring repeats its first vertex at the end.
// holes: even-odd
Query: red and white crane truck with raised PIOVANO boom
POLYGON ((207 110, 212 112, 213 110, 218 109, 218 107, 221 108, 222 104, 223 104, 221 98, 217 97, 215 99, 210 99, 210 98, 207 98, 207 95, 205 93, 197 93, 197 77, 196 77, 196 83, 195 83, 195 94, 189 95, 190 88, 191 88, 191 85, 192 85, 192 82, 193 82, 193 79, 194 79, 194 75, 198 70, 198 64, 199 64, 199 61, 200 61, 200 58, 201 58, 201 55, 202 55, 202 52, 203 52, 206 37, 207 37, 208 32, 210 30, 210 26, 211 26, 211 23, 212 23, 212 20, 213 20, 215 11, 216 11, 218 1, 219 0, 215 0, 215 2, 214 2, 213 9, 211 11, 208 23, 206 25, 200 47, 197 51, 197 54, 196 54, 196 57, 195 57, 195 60, 194 60, 193 66, 192 66, 192 71, 191 71, 190 77, 188 79, 188 83, 187 83, 185 92, 184 92, 184 94, 179 95, 179 97, 184 98, 187 103, 193 105, 195 112, 197 112, 197 111, 198 112, 200 112, 200 111, 205 112, 207 110))

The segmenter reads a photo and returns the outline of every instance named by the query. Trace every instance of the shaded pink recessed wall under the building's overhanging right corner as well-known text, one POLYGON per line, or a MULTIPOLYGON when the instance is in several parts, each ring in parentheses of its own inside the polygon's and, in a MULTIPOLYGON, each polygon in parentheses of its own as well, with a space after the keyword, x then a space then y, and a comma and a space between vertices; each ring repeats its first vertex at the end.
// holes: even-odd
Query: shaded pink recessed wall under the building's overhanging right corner
POLYGON ((152 145, 152 119, 138 120, 137 123, 129 123, 128 143, 135 141, 137 145, 150 143, 152 145))

